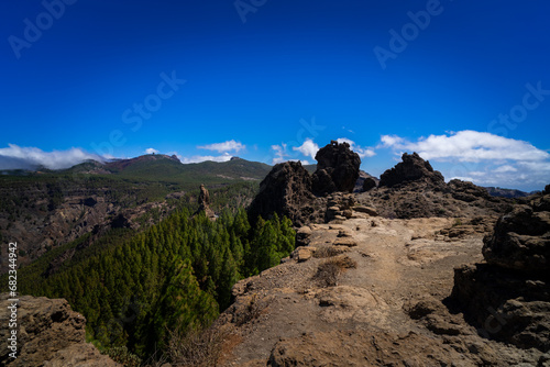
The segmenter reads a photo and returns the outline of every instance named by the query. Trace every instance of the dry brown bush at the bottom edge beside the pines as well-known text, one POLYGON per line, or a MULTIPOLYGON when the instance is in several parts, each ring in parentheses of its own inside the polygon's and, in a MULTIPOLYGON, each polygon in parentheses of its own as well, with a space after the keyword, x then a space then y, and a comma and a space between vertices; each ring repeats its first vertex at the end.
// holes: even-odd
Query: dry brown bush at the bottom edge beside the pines
POLYGON ((218 329, 169 332, 166 349, 172 366, 211 367, 217 366, 221 357, 227 333, 218 329))

